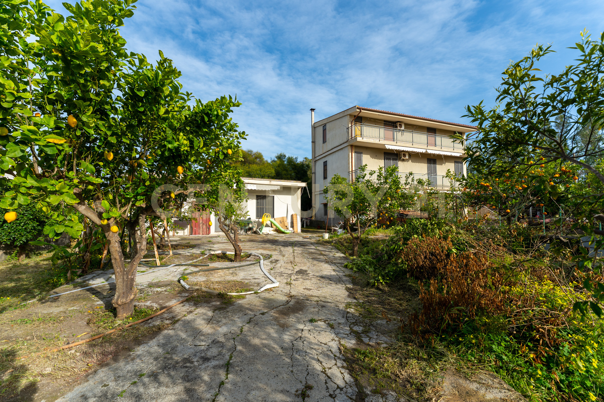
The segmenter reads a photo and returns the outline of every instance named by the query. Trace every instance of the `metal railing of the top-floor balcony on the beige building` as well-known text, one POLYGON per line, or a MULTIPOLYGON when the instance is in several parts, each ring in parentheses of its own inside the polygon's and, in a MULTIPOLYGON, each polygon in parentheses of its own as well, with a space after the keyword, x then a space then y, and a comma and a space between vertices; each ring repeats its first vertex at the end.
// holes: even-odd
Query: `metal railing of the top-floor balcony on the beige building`
POLYGON ((453 149, 455 151, 463 151, 464 148, 463 143, 454 142, 455 140, 448 136, 420 133, 419 131, 398 130, 396 128, 381 127, 378 125, 355 123, 347 128, 347 131, 350 139, 371 138, 392 142, 404 142, 425 148, 453 149))

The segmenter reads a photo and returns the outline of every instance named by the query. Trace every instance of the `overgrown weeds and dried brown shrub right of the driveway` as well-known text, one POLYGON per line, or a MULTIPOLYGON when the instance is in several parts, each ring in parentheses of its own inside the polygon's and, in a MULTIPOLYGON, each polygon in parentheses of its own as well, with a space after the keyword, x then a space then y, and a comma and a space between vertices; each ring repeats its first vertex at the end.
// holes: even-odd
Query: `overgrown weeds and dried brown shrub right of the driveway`
MULTIPOLYGON (((394 230, 349 267, 370 277, 376 292, 416 281, 421 306, 402 328, 413 342, 430 353, 447 351, 464 371, 493 371, 532 401, 604 397, 604 322, 596 316, 581 322, 571 310, 583 297, 579 283, 585 275, 570 262, 572 245, 548 253, 535 230, 486 219, 415 222, 394 230)), ((373 305, 358 303, 358 309, 375 316, 387 303, 376 299, 373 305)), ((385 364, 371 357, 381 356, 377 351, 367 353, 356 359, 374 359, 377 368, 385 364)))

